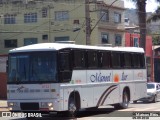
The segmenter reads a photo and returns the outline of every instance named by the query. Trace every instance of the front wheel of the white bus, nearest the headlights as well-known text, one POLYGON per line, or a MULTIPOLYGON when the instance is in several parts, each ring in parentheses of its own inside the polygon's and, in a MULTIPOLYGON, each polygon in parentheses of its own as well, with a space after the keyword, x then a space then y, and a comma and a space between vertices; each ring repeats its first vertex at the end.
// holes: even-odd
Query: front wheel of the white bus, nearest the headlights
POLYGON ((77 104, 76 104, 76 100, 73 97, 71 97, 69 99, 69 103, 68 103, 69 116, 75 117, 76 113, 77 113, 77 110, 78 110, 78 107, 77 107, 77 104))

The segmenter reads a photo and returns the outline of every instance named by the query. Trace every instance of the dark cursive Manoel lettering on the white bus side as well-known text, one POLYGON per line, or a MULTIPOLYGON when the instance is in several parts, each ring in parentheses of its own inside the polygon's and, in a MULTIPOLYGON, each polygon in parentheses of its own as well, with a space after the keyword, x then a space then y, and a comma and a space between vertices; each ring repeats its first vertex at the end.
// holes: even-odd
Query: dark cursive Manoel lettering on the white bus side
POLYGON ((96 73, 90 76, 91 82, 109 82, 111 81, 111 73, 107 75, 102 75, 101 73, 96 73))

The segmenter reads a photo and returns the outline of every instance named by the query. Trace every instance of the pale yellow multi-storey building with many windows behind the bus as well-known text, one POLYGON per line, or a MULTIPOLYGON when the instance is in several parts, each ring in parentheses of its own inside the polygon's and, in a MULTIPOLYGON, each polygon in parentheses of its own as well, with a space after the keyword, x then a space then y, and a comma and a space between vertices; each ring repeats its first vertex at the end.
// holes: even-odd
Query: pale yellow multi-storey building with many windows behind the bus
POLYGON ((124 46, 124 11, 122 0, 0 0, 0 55, 36 43, 86 44, 87 35, 91 45, 124 46))

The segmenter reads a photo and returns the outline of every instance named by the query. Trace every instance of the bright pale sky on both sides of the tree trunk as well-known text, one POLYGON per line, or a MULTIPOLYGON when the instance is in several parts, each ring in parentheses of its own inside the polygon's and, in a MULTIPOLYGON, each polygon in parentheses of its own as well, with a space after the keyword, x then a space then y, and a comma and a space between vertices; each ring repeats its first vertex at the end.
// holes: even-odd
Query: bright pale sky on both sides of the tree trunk
MULTIPOLYGON (((135 4, 133 2, 129 2, 130 0, 124 0, 125 8, 135 8, 135 4)), ((159 3, 156 3, 155 0, 147 0, 146 11, 154 12, 157 6, 160 6, 159 3)))

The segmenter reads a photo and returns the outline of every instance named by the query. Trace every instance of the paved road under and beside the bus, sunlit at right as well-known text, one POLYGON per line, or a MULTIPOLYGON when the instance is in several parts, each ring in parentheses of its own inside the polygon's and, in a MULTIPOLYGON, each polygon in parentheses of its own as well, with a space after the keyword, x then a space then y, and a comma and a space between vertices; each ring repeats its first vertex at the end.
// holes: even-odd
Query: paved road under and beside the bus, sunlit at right
MULTIPOLYGON (((3 105, 5 107, 5 104, 3 105)), ((5 108, 6 109, 6 108, 5 108)), ((77 118, 69 118, 69 117, 58 117, 58 116, 45 116, 43 118, 37 118, 37 120, 72 120, 72 119, 77 119, 77 120, 133 120, 131 117, 133 112, 137 113, 143 113, 144 111, 147 111, 147 113, 159 113, 159 117, 149 117, 151 120, 159 120, 160 119, 160 102, 157 103, 142 103, 138 102, 136 104, 130 104, 128 109, 124 110, 115 110, 111 106, 102 107, 98 110, 92 109, 92 110, 87 110, 87 111, 81 111, 77 115, 77 118), (153 111, 153 112, 152 112, 153 111), (120 117, 122 116, 122 117, 120 117), (128 116, 128 117, 126 117, 128 116)), ((3 118, 3 120, 26 120, 26 118, 3 118)), ((142 118, 140 118, 142 119, 142 118)))

